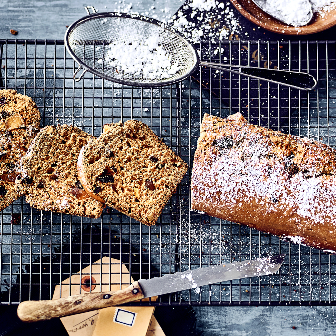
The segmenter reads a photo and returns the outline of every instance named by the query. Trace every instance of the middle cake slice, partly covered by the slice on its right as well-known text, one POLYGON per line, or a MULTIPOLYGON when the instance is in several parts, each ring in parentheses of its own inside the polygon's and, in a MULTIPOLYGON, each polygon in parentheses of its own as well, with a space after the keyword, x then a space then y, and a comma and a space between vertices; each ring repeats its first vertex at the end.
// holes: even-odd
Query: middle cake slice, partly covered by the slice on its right
POLYGON ((77 158, 93 136, 75 126, 46 126, 21 160, 16 186, 32 207, 98 218, 102 204, 88 195, 78 179, 77 158))

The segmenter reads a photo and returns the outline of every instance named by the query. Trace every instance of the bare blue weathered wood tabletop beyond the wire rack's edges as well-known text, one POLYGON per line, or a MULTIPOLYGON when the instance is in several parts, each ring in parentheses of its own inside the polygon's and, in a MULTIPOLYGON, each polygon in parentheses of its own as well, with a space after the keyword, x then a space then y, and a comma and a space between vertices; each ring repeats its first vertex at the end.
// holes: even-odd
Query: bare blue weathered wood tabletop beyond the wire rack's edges
MULTIPOLYGON (((66 26, 86 15, 84 6, 103 12, 126 8, 130 2, 1 0, 0 39, 14 38, 10 29, 18 31, 18 39, 63 39, 66 26)), ((166 20, 180 5, 180 0, 140 0, 131 10, 166 20)), ((335 307, 195 307, 195 311, 202 336, 336 335, 335 307)))

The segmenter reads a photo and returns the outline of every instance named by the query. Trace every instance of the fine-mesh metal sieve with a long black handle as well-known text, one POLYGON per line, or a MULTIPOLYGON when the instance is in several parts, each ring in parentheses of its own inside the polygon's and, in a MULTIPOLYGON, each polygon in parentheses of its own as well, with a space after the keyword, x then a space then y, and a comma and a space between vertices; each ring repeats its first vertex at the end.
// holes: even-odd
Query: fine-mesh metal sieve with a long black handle
POLYGON ((80 81, 89 71, 98 77, 120 84, 164 86, 181 81, 202 65, 302 90, 311 90, 317 85, 316 80, 307 73, 200 61, 191 43, 158 20, 137 14, 96 13, 92 6, 84 8, 89 15, 69 26, 64 38, 69 54, 79 64, 73 75, 75 81, 80 81), (92 9, 92 14, 89 8, 92 9), (178 62, 179 70, 168 78, 150 79, 141 72, 128 73, 111 66, 106 60, 110 43, 127 45, 154 37, 167 55, 171 56, 171 64, 178 62), (76 77, 81 69, 82 73, 76 77))

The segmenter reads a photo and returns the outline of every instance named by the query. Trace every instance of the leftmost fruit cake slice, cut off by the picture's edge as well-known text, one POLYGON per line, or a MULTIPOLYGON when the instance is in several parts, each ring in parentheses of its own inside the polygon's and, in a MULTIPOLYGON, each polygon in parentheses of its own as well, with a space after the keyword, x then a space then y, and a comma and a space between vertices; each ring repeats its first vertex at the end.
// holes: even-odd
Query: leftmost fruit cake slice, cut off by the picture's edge
POLYGON ((15 191, 15 178, 39 129, 40 111, 32 98, 0 90, 0 211, 22 196, 15 191))

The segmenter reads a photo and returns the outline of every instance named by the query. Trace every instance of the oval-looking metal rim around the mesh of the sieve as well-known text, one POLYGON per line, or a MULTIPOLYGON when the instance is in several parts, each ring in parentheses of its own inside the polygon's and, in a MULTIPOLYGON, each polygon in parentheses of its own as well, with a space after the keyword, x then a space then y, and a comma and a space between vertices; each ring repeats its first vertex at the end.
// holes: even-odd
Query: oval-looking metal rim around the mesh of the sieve
MULTIPOLYGON (((66 46, 66 49, 68 51, 68 53, 70 54, 70 56, 79 64, 79 68, 77 69, 77 71, 75 72, 75 74, 78 73, 78 71, 80 70, 80 68, 84 69, 84 72, 82 73, 81 77, 84 75, 84 73, 86 71, 100 77, 103 79, 106 79, 108 81, 112 81, 112 82, 116 82, 119 84, 124 84, 124 85, 129 85, 129 86, 138 86, 138 87, 159 87, 159 86, 167 86, 167 85, 172 85, 175 83, 178 83, 180 81, 182 81, 183 79, 191 76, 191 74, 195 71, 195 69, 199 66, 200 64, 200 58, 197 54, 197 52, 195 51, 195 48, 193 47, 193 45, 188 42, 186 39, 184 39, 183 37, 181 37, 180 35, 176 34, 173 30, 169 29, 163 22, 160 22, 154 18, 151 17, 147 17, 144 15, 139 15, 139 14, 130 14, 130 13, 118 13, 118 12, 104 12, 104 13, 92 13, 86 16, 83 16, 82 18, 80 18, 79 20, 75 21, 73 24, 71 24, 64 36, 64 43, 66 46), (175 78, 173 80, 166 80, 166 81, 162 81, 162 82, 134 82, 134 81, 130 81, 130 80, 125 80, 125 79, 119 79, 119 78, 115 78, 106 74, 101 73, 100 71, 97 71, 91 67, 89 67, 87 64, 85 64, 80 58, 78 58, 75 54, 75 52, 72 50, 72 48, 70 47, 69 44, 69 35, 72 32, 73 29, 75 29, 77 26, 83 24, 84 22, 88 21, 88 20, 92 20, 93 18, 104 18, 104 17, 122 17, 122 18, 130 18, 130 19, 136 19, 136 20, 140 20, 140 21, 146 21, 149 22, 151 24, 154 24, 156 26, 159 26, 167 31, 169 31, 170 33, 172 33, 173 35, 175 35, 177 38, 179 38, 190 50, 191 54, 193 55, 193 59, 195 60, 195 64, 194 66, 188 71, 186 72, 183 76, 175 78)), ((75 77, 75 75, 74 75, 75 77)))

